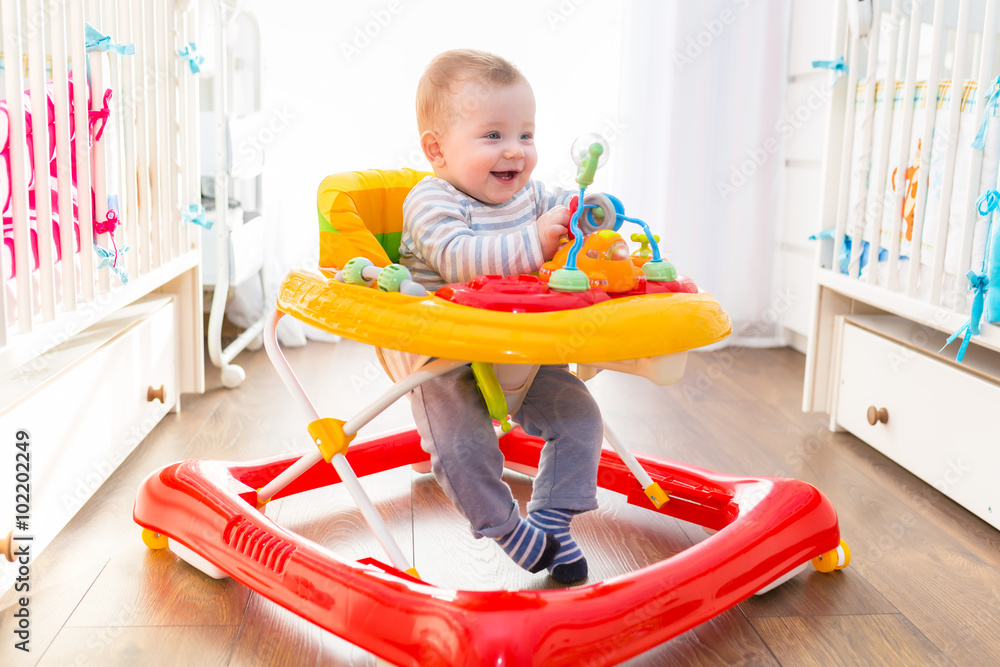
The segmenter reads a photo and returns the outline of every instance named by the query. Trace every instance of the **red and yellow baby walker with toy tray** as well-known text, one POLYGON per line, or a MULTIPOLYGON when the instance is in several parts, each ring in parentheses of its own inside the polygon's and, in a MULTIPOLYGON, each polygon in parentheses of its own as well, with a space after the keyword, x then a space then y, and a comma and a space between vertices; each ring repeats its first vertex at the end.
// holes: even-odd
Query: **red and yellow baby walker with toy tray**
POLYGON ((580 192, 570 237, 538 276, 480 276, 428 294, 392 262, 402 202, 425 176, 410 169, 328 177, 320 187, 321 271, 292 271, 265 330, 275 369, 308 416, 316 448, 246 463, 184 461, 141 485, 134 518, 151 548, 168 547, 213 577, 232 577, 303 618, 404 665, 613 664, 674 637, 810 561, 846 567, 830 501, 793 479, 730 476, 632 455, 607 431, 601 487, 629 503, 717 531, 655 565, 607 581, 554 590, 449 590, 422 581, 391 537, 358 477, 427 464, 415 429, 355 442, 358 431, 425 380, 474 364, 506 465, 537 471, 543 442, 516 411, 539 364, 575 363, 658 384, 680 379, 687 350, 730 333, 710 294, 677 275, 648 225, 621 202, 588 194, 606 158, 599 138, 574 144, 580 192), (642 227, 629 253, 618 234, 642 227), (383 348, 436 358, 346 421, 322 417, 278 347, 285 314, 383 348), (652 334, 656 335, 644 335, 652 334), (513 389, 511 389, 513 387, 513 389), (265 516, 270 500, 329 484, 347 486, 389 563, 348 561, 265 516))

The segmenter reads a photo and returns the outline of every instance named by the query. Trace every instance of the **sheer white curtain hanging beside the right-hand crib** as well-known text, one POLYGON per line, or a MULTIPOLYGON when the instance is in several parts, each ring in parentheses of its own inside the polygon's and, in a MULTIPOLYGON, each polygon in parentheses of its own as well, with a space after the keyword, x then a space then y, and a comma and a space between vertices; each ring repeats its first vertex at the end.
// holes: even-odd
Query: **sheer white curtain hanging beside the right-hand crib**
POLYGON ((783 345, 773 290, 790 0, 625 3, 615 189, 678 272, 783 345))

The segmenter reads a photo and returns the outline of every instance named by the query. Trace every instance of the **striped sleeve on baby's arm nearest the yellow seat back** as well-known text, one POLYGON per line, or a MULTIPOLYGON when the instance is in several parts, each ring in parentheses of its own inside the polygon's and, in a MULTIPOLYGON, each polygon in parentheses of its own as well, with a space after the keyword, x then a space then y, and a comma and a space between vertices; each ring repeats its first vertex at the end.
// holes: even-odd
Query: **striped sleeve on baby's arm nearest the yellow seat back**
POLYGON ((403 204, 403 225, 414 254, 445 283, 483 274, 531 273, 545 261, 533 224, 476 233, 451 193, 431 186, 411 195, 403 204))

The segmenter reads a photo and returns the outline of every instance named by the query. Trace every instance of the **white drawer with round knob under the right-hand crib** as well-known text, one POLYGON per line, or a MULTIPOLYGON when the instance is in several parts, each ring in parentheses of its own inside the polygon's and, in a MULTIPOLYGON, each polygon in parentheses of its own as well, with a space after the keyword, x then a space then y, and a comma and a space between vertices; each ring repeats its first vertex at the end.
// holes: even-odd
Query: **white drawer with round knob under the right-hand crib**
POLYGON ((840 358, 836 422, 1000 528, 1000 386, 850 320, 840 358))

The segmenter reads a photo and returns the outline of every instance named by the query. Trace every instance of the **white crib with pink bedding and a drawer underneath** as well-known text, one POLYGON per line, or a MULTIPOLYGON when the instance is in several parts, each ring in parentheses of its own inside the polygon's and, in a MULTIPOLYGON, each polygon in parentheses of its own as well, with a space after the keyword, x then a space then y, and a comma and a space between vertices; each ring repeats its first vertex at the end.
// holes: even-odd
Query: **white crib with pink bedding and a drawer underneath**
POLYGON ((25 107, 0 114, 0 433, 30 434, 35 555, 181 392, 204 391, 193 4, 0 0, 2 94, 25 107))

